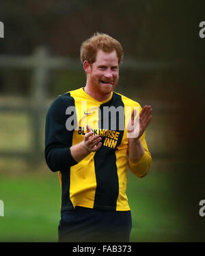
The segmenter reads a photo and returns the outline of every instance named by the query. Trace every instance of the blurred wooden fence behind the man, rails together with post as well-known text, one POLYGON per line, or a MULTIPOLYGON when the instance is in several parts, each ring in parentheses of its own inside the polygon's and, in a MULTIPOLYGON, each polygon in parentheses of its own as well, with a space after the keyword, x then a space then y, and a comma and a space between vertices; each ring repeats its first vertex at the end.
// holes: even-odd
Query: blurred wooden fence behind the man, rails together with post
MULTIPOLYGON (((120 69, 134 69, 134 70, 156 70, 156 69, 172 69, 178 67, 177 63, 167 62, 141 62, 131 58, 125 58, 124 63, 120 69)), ((26 112, 31 117, 32 141, 31 150, 29 152, 5 152, 0 151, 0 156, 12 156, 29 159, 33 163, 38 163, 42 159, 42 119, 48 108, 45 102, 47 99, 47 80, 49 78, 49 71, 56 69, 66 70, 82 70, 79 60, 64 58, 59 56, 49 56, 48 51, 44 47, 38 47, 31 56, 0 56, 0 68, 8 69, 31 69, 31 95, 29 103, 21 105, 1 104, 1 112, 23 113, 26 112)), ((151 103, 152 104, 152 103, 151 103)), ((153 102, 154 111, 172 111, 177 106, 160 106, 153 102)))

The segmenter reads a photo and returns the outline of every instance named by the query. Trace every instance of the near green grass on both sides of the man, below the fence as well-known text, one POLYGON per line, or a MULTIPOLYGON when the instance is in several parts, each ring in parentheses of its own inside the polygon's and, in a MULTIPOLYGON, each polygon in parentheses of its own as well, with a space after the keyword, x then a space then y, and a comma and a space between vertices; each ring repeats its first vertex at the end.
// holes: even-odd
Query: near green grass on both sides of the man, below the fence
MULTIPOLYGON (((56 173, 46 166, 41 172, 2 174, 0 242, 56 242, 61 191, 56 173)), ((128 173, 127 194, 133 229, 131 242, 180 242, 184 216, 175 204, 170 172, 152 170, 140 179, 128 173)))

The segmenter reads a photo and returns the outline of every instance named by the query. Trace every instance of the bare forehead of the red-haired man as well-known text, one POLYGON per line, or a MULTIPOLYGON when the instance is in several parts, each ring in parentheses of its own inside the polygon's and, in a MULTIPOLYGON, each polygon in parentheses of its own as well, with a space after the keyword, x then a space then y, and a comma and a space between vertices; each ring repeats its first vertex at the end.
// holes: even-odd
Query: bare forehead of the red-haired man
POLYGON ((109 65, 118 65, 118 55, 115 50, 111 52, 105 52, 99 49, 96 54, 96 63, 104 63, 109 65))

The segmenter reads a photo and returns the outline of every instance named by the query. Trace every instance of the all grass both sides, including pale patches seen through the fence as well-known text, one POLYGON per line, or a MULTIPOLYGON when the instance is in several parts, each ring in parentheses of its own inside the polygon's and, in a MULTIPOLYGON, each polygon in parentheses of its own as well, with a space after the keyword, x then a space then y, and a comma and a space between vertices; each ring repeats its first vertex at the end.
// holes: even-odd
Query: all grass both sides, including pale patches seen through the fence
MULTIPOLYGON (((165 145, 174 150, 173 130, 165 126, 168 121, 166 116, 154 117, 147 134, 151 152, 156 148, 165 152, 165 145), (169 137, 165 136, 167 129, 169 137)), ((31 123, 25 113, 1 113, 0 124, 0 150, 30 150, 31 123)), ((43 144, 44 139, 42 148, 43 144)), ((173 176, 178 171, 169 161, 153 159, 148 176, 140 179, 128 173, 127 195, 133 218, 131 242, 187 240, 187 223, 174 191, 173 176)), ((4 202, 0 242, 57 241, 61 190, 57 174, 49 171, 44 162, 34 167, 21 159, 0 158, 0 200, 4 202)))

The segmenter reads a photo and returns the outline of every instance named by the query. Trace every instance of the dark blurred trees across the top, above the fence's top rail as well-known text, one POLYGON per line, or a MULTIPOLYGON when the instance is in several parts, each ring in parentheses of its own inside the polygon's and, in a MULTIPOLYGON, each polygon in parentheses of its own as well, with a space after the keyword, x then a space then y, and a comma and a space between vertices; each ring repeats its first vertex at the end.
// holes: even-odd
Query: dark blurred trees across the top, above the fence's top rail
MULTIPOLYGON (((198 23, 203 6, 200 0, 7 0, 0 9, 5 25, 0 54, 33 54, 44 45, 51 55, 79 58, 83 40, 98 31, 120 40, 125 56, 183 61, 200 68, 204 41, 198 36, 198 23)), ((0 75, 1 80, 8 79, 6 73, 0 75)), ((28 91, 21 75, 16 86, 28 91)))

